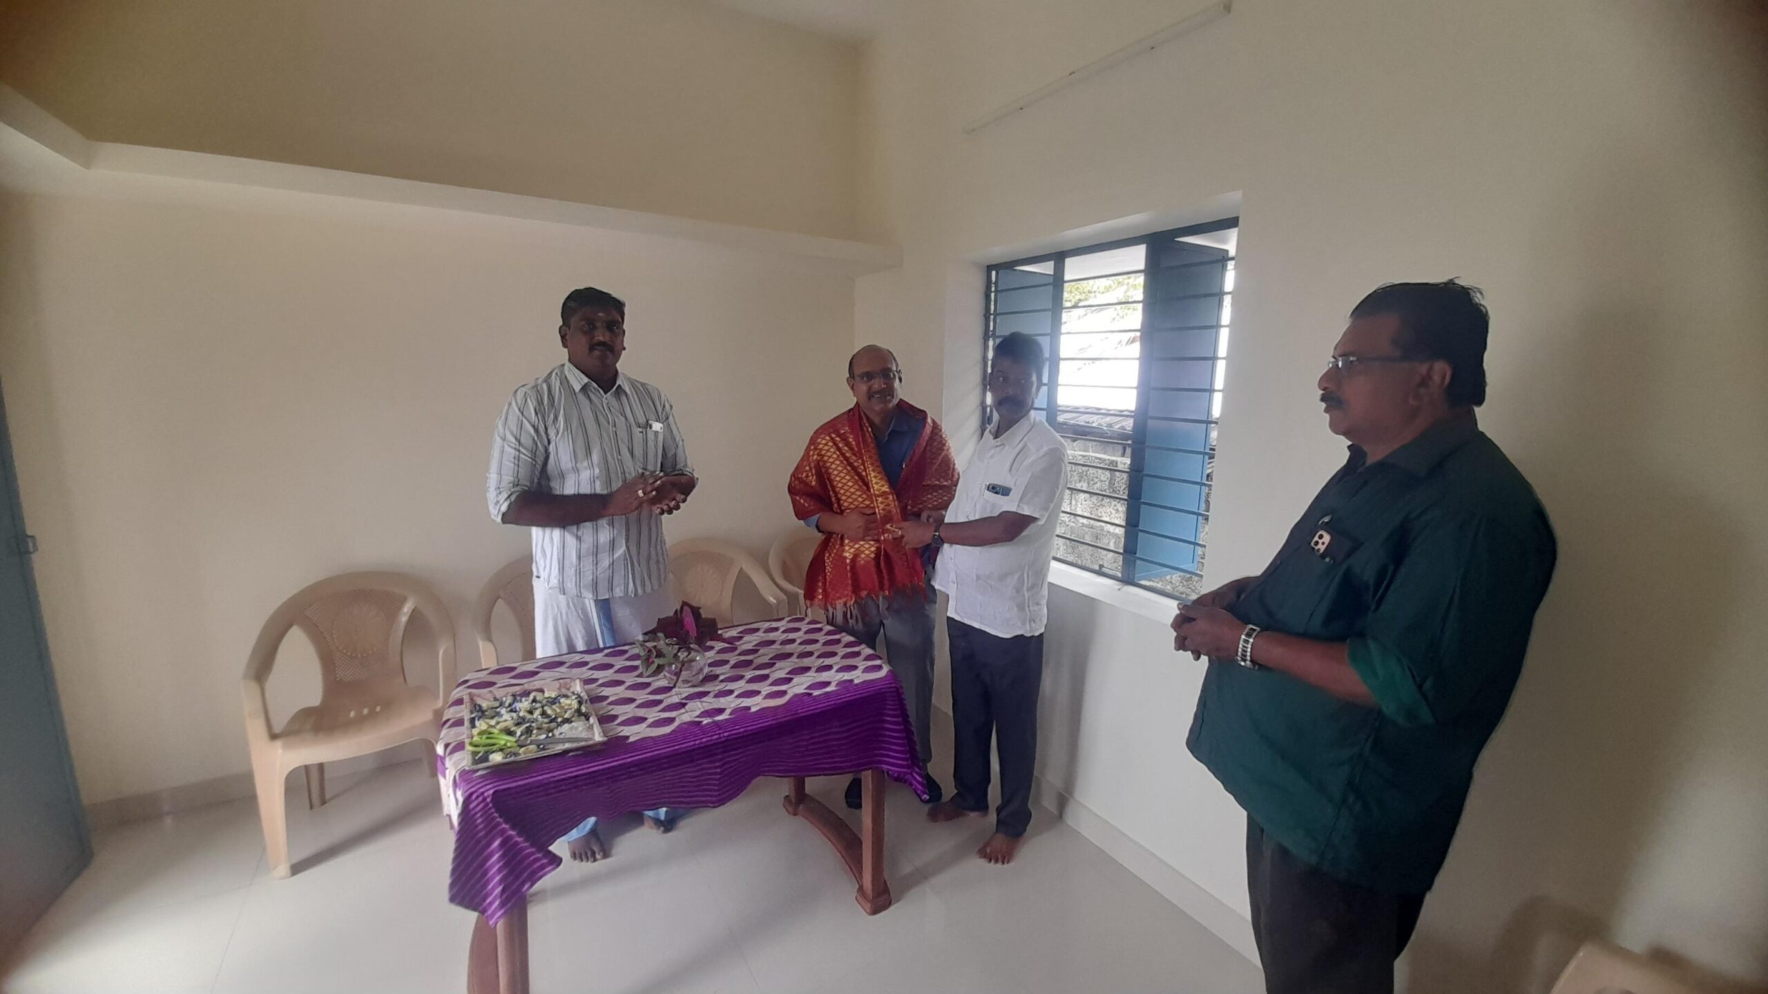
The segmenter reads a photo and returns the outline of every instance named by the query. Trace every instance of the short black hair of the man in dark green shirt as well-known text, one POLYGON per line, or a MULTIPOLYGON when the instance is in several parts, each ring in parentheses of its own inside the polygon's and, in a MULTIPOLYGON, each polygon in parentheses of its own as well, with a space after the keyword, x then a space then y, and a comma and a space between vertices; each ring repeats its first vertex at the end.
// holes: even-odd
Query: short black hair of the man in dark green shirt
POLYGON ((1478 287, 1459 279, 1383 283, 1351 308, 1353 318, 1376 315, 1400 318, 1393 345, 1402 356, 1448 363, 1453 371, 1446 394, 1452 407, 1485 403, 1485 340, 1492 318, 1478 287))

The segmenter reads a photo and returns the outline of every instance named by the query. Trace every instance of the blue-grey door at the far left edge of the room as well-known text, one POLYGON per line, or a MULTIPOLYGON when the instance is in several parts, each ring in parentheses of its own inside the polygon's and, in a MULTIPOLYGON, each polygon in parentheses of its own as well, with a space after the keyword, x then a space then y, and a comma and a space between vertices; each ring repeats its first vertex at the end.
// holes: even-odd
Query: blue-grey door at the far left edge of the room
POLYGON ((0 400, 0 959, 92 860, 0 400))

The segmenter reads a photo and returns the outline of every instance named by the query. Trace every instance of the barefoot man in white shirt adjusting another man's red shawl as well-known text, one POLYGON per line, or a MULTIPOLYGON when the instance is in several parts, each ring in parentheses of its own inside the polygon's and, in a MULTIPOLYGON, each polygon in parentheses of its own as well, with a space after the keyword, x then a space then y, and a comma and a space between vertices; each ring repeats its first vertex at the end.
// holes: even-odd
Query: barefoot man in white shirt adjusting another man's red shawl
POLYGON ((992 734, 1001 807, 976 854, 997 865, 1013 861, 1031 824, 1050 555, 1068 485, 1068 449, 1031 414, 1043 370, 1036 338, 1015 333, 995 343, 988 373, 995 423, 964 467, 946 520, 895 527, 911 548, 941 547, 934 585, 948 596, 955 792, 926 817, 988 814, 992 734))

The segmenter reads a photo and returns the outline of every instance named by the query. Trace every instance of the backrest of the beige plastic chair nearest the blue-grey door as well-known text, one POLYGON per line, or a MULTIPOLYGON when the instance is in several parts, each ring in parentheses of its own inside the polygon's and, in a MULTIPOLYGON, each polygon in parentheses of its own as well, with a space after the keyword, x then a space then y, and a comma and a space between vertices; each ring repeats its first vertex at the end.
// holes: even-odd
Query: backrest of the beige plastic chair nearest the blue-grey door
POLYGON ((405 573, 343 573, 285 600, 263 623, 248 679, 263 681, 276 646, 292 628, 306 633, 320 661, 320 707, 352 711, 407 686, 405 628, 414 612, 430 619, 438 676, 447 693, 454 669, 454 623, 421 580, 405 573))

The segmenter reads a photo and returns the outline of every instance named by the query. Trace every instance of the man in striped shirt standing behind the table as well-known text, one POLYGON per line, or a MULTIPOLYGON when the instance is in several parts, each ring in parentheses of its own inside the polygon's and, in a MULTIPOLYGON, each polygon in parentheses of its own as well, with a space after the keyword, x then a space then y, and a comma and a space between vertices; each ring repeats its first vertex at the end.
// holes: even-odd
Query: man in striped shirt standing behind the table
MULTIPOLYGON (((633 642, 675 607, 659 516, 697 485, 668 398, 619 371, 626 302, 583 287, 559 320, 568 361, 509 398, 484 486, 492 518, 532 529, 541 656, 633 642)), ((645 821, 674 826, 667 808, 645 821)), ((596 819, 566 842, 578 861, 608 854, 596 819)))

